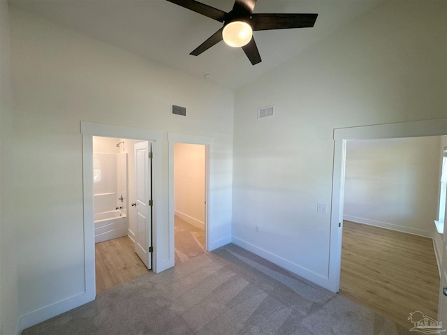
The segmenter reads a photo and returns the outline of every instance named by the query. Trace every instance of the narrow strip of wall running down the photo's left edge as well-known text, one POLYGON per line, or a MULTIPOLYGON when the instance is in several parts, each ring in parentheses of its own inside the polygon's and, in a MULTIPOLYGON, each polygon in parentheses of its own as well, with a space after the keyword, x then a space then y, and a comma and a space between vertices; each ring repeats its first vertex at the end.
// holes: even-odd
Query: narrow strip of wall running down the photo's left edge
MULTIPOLYGON (((9 13, 0 1, 0 329, 15 334, 19 317, 17 255, 12 190, 13 91, 11 86, 9 13)), ((0 330, 1 333, 1 330, 0 330)))

